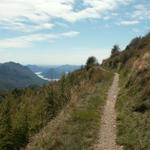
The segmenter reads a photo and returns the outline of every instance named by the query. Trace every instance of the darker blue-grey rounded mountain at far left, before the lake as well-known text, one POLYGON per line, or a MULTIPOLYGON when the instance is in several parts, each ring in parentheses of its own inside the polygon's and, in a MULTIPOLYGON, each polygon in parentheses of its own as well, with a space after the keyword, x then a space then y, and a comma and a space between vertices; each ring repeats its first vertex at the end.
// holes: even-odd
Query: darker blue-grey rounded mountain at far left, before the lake
POLYGON ((46 81, 36 76, 26 66, 14 62, 0 64, 0 90, 12 90, 44 83, 46 81))

